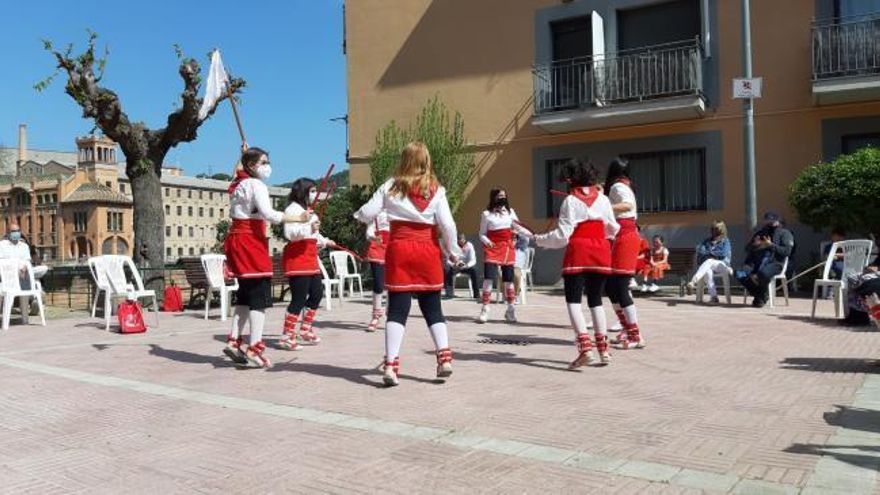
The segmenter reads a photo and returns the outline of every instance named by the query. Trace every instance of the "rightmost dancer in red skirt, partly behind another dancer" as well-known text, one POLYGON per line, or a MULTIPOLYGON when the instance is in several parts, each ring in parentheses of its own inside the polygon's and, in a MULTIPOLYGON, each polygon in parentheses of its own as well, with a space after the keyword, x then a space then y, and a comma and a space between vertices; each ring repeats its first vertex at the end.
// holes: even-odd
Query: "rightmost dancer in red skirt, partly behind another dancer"
POLYGON ((636 307, 629 293, 629 282, 636 273, 639 256, 636 195, 631 186, 627 162, 621 158, 612 160, 605 178, 605 191, 611 200, 620 231, 611 247, 611 276, 605 283, 605 293, 623 325, 623 331, 613 343, 623 349, 645 346, 645 339, 639 332, 636 307))

